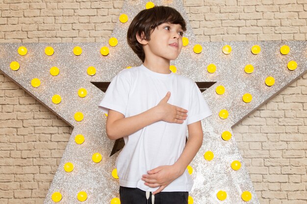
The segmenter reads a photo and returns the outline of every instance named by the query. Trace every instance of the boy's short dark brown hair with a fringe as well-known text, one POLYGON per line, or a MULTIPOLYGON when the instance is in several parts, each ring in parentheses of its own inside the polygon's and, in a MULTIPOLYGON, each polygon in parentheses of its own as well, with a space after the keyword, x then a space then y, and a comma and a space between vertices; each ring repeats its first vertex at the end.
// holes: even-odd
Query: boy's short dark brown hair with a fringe
POLYGON ((128 45, 142 62, 145 61, 145 53, 143 46, 136 39, 136 34, 141 37, 144 32, 143 39, 149 41, 151 32, 162 23, 180 24, 182 30, 186 31, 185 22, 180 13, 169 6, 154 6, 150 9, 144 9, 130 23, 127 32, 128 45))

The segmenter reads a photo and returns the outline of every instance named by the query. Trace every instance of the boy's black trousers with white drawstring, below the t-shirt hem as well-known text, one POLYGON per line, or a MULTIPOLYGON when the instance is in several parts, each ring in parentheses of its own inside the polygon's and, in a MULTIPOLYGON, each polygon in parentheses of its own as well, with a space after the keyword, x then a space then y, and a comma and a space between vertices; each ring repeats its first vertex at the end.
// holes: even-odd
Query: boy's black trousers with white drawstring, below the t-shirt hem
MULTIPOLYGON (((139 188, 119 187, 121 204, 147 204, 146 192, 139 188)), ((189 192, 160 192, 154 195, 154 204, 188 204, 189 192)), ((152 193, 148 199, 152 204, 152 193)))

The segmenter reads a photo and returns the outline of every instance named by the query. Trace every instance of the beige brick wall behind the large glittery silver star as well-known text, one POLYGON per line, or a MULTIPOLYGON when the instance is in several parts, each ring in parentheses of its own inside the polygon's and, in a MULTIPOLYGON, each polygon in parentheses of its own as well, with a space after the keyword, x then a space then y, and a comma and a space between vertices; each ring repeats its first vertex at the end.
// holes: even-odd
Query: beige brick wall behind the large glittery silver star
MULTIPOLYGON (((40 1, 0 0, 0 43, 106 42, 123 6, 40 1)), ((201 42, 307 39, 307 0, 183 3, 201 42)), ((233 131, 261 204, 307 204, 307 74, 233 131)), ((0 204, 43 204, 71 132, 0 73, 0 204)))

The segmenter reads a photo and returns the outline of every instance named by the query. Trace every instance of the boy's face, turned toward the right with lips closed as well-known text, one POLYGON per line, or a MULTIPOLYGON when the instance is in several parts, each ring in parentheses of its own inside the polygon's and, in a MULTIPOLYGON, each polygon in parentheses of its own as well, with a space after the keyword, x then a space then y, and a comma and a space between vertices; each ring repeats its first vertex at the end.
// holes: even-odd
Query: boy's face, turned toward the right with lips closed
POLYGON ((180 24, 158 25, 151 33, 150 41, 146 41, 146 45, 143 46, 145 56, 175 60, 182 48, 182 35, 183 30, 180 24))

